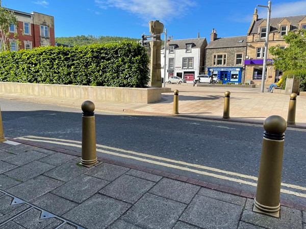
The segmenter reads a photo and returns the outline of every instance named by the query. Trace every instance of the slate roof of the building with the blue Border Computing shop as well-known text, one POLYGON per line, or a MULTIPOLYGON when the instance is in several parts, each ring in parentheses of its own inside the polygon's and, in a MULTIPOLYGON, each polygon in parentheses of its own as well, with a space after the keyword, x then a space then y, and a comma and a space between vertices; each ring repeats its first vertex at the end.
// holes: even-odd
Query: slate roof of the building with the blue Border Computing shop
POLYGON ((246 47, 247 36, 217 38, 209 42, 206 49, 209 48, 231 48, 231 47, 246 47), (242 42, 238 42, 242 40, 242 42))

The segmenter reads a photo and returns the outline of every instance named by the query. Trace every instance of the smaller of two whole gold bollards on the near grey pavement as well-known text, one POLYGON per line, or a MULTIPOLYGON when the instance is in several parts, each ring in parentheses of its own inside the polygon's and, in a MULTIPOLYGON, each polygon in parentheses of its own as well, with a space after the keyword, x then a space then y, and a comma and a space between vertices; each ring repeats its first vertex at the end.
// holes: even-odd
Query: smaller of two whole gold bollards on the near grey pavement
POLYGON ((81 164, 91 167, 97 163, 96 138, 94 123, 94 104, 91 101, 82 103, 82 158, 81 164))

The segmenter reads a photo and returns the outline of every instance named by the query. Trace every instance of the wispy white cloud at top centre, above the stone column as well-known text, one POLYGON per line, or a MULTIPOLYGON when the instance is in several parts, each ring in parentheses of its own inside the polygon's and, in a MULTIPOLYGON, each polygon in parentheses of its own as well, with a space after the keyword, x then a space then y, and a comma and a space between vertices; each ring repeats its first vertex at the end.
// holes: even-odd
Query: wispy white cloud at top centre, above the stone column
POLYGON ((182 17, 194 0, 95 0, 101 9, 115 7, 137 15, 143 19, 170 21, 182 17))

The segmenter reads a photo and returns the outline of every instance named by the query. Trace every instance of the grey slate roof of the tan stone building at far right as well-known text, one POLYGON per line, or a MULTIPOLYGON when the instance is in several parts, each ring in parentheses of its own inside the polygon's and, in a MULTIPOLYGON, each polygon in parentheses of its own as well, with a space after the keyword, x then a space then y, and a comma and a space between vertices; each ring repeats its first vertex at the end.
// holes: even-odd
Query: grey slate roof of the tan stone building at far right
MULTIPOLYGON (((287 19, 288 21, 291 22, 291 28, 290 31, 296 31, 298 30, 298 22, 300 22, 306 15, 299 15, 299 16, 289 16, 289 17, 275 17, 275 18, 270 18, 270 32, 279 32, 278 31, 278 23, 281 22, 283 19, 287 19)), ((258 19, 254 26, 251 29, 250 34, 257 34, 258 33, 258 26, 260 23, 262 23, 264 20, 267 20, 267 18, 260 18, 258 19)))

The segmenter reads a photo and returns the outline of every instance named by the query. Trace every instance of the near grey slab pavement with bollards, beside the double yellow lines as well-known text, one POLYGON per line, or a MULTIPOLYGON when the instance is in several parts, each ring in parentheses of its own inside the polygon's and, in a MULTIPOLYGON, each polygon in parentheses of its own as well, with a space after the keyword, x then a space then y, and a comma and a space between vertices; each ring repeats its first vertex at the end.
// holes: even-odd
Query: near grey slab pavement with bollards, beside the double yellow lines
POLYGON ((254 193, 80 155, 1 142, 0 228, 306 228, 305 206, 274 218, 252 212, 254 193))

